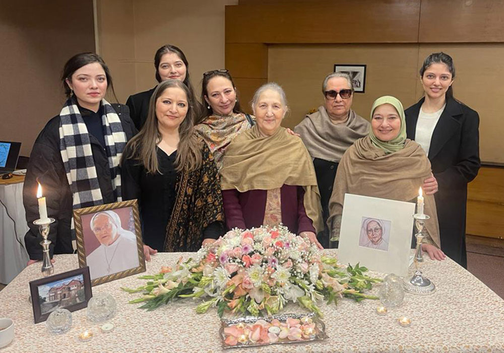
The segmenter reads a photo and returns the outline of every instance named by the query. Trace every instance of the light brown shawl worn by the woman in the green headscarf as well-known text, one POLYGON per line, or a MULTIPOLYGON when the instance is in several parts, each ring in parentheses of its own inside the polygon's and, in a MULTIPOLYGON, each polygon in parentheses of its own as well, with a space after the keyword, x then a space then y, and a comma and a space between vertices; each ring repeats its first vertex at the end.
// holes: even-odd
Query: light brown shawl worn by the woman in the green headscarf
MULTIPOLYGON (((406 139, 402 150, 386 154, 369 136, 358 139, 343 155, 336 173, 327 221, 332 236, 339 236, 345 193, 411 202, 430 176, 430 162, 416 142, 406 139)), ((425 228, 440 247, 434 196, 425 195, 424 202, 424 213, 430 216, 425 228)))

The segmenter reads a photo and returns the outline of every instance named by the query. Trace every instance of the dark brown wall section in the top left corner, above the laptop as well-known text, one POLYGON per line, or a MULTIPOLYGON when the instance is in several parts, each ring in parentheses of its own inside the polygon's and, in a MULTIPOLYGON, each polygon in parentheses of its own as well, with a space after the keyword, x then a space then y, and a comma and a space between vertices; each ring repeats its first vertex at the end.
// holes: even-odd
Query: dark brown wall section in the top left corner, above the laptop
POLYGON ((93 2, 2 2, 0 139, 29 156, 38 133, 65 101, 59 77, 74 54, 94 51, 93 2), (66 21, 62 19, 79 19, 66 21))

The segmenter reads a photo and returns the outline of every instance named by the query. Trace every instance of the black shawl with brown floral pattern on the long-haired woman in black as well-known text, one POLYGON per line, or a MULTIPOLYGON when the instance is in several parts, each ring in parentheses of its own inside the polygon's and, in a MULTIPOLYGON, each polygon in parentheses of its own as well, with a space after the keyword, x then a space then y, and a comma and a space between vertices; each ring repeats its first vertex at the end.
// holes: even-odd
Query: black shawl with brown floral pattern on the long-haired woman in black
POLYGON ((166 227, 164 251, 198 251, 203 230, 215 221, 224 221, 219 174, 214 157, 202 141, 200 169, 177 173, 176 199, 166 227))

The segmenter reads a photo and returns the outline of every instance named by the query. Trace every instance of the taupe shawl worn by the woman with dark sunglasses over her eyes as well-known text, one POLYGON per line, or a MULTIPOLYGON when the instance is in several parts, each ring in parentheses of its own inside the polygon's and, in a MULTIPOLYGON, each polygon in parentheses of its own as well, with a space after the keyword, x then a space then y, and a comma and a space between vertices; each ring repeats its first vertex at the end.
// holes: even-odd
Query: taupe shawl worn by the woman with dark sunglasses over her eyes
POLYGON ((369 121, 350 110, 348 119, 340 124, 331 122, 324 106, 306 117, 294 127, 301 135, 311 158, 339 162, 345 151, 356 139, 369 132, 369 121))

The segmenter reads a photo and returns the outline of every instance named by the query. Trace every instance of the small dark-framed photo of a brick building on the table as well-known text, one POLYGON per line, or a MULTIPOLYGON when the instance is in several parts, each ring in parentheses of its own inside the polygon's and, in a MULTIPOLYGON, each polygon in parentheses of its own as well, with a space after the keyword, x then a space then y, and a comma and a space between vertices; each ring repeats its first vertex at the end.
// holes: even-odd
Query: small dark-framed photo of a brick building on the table
POLYGON ((57 308, 70 311, 83 309, 93 296, 89 267, 32 280, 30 292, 35 323, 47 320, 57 308))

